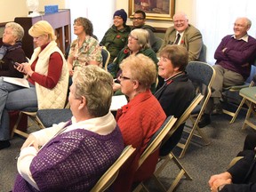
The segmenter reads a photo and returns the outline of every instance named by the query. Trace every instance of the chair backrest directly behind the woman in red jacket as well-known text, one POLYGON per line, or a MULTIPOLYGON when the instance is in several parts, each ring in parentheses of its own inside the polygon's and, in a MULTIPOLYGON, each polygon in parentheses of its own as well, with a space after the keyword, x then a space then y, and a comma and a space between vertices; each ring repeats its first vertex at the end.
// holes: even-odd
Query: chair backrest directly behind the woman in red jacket
POLYGON ((139 166, 144 163, 144 161, 148 158, 150 154, 152 154, 156 148, 160 147, 160 144, 162 140, 164 140, 164 137, 170 130, 172 129, 173 124, 175 124, 177 118, 174 116, 168 116, 164 124, 161 125, 161 127, 155 132, 155 134, 152 136, 152 138, 148 141, 148 146, 144 150, 143 154, 140 156, 139 160, 139 166))

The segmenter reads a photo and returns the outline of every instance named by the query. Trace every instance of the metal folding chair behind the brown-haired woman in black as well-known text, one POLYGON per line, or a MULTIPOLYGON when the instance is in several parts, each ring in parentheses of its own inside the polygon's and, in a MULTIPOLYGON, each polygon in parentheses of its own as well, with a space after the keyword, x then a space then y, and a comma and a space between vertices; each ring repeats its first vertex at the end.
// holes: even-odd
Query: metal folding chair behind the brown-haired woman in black
POLYGON ((177 144, 179 148, 182 148, 182 151, 179 156, 180 158, 185 155, 188 149, 188 145, 193 136, 203 139, 205 145, 210 144, 210 141, 207 139, 206 135, 204 134, 204 132, 201 131, 201 129, 198 127, 197 124, 199 123, 201 116, 203 116, 204 108, 206 107, 208 100, 210 99, 210 96, 212 94, 211 86, 212 86, 212 81, 215 77, 214 68, 212 68, 211 65, 205 62, 190 61, 188 63, 186 71, 188 72, 188 78, 193 83, 199 84, 201 88, 205 86, 205 91, 203 91, 204 100, 202 100, 201 103, 196 106, 196 108, 192 111, 191 115, 189 116, 189 119, 192 122, 192 126, 188 126, 188 124, 186 124, 186 128, 188 129, 184 131, 188 132, 188 139, 187 140, 185 139, 186 140, 185 143, 179 142, 177 144))

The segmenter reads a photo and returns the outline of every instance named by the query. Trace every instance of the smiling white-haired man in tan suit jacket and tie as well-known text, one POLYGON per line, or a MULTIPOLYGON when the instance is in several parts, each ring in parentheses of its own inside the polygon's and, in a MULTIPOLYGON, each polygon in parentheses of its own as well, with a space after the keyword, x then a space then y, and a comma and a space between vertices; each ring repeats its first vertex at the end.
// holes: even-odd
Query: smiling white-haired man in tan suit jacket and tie
POLYGON ((188 24, 188 16, 183 12, 177 12, 173 16, 174 26, 168 28, 164 35, 164 43, 160 47, 161 52, 167 44, 179 44, 188 50, 188 61, 198 60, 203 47, 201 32, 188 24), (178 38, 180 34, 180 38, 178 38), (178 41, 177 41, 178 40, 178 41))

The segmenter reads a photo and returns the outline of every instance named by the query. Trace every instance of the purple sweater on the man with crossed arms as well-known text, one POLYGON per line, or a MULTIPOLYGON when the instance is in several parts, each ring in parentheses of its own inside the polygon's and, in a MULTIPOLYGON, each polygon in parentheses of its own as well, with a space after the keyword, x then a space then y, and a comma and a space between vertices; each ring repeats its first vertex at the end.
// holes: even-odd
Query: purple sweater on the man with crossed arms
POLYGON ((236 40, 231 35, 225 36, 214 54, 214 59, 217 60, 216 64, 241 74, 246 80, 256 59, 256 40, 252 36, 248 36, 248 42, 236 40), (228 49, 222 52, 225 47, 228 49))

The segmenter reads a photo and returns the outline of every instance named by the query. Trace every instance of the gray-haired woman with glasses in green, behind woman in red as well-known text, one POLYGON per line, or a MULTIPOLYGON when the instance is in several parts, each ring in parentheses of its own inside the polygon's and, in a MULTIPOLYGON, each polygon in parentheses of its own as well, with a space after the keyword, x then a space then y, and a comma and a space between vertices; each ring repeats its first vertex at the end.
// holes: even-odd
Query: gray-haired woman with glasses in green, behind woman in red
MULTIPOLYGON (((148 58, 155 62, 155 66, 157 66, 158 60, 156 58, 156 52, 154 52, 149 45, 148 31, 142 28, 136 28, 131 31, 131 34, 128 38, 127 47, 125 47, 121 52, 118 53, 116 60, 109 65, 108 72, 110 72, 113 77, 118 77, 122 72, 119 68, 122 60, 129 57, 130 55, 136 55, 139 53, 148 56, 148 58)), ((155 88, 156 80, 152 84, 151 91, 154 92, 155 88)), ((115 84, 114 92, 118 91, 119 89, 120 84, 115 84)))

